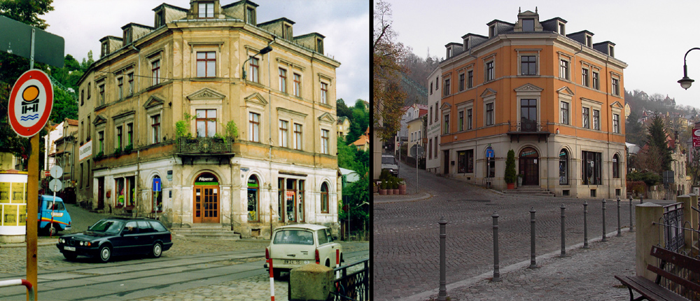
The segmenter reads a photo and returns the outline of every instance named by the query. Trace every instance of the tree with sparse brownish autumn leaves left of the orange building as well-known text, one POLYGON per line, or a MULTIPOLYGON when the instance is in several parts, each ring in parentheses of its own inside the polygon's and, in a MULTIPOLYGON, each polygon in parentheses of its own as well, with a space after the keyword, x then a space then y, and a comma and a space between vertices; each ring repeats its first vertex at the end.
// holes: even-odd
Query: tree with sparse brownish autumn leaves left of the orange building
POLYGON ((377 1, 372 34, 372 120, 374 131, 382 141, 390 140, 400 128, 405 93, 400 90, 399 80, 400 73, 406 69, 399 62, 409 52, 402 43, 395 41, 391 23, 391 6, 377 1))

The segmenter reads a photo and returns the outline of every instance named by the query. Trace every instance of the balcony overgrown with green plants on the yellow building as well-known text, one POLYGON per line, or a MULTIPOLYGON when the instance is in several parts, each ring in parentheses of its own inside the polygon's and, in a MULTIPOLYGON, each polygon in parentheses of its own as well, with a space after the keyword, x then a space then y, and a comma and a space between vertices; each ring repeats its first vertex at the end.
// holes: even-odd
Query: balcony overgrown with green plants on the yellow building
POLYGON ((230 137, 179 137, 176 141, 176 155, 193 164, 195 158, 207 157, 223 161, 235 155, 234 139, 230 137))

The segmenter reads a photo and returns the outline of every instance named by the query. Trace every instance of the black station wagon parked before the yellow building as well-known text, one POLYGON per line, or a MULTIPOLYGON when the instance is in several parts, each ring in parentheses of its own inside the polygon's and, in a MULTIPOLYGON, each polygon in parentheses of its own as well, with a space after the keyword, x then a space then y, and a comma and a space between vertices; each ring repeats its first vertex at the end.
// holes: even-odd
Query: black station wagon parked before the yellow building
POLYGON ((158 258, 172 244, 170 231, 160 221, 103 218, 83 233, 60 237, 56 246, 68 260, 85 255, 108 262, 113 255, 148 254, 158 258))

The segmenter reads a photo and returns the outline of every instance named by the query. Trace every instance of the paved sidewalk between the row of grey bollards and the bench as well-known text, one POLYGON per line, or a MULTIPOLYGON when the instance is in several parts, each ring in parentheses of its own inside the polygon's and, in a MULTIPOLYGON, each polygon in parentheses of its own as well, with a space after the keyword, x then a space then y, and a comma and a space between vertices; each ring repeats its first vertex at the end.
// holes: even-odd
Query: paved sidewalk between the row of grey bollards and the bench
MULTIPOLYGON (((629 229, 627 229, 629 230, 629 229)), ((447 285, 447 296, 456 300, 628 300, 629 291, 615 275, 635 273, 635 234, 610 232, 608 241, 591 239, 589 248, 577 244, 561 251, 540 255, 538 268, 529 269, 530 260, 500 268, 502 281, 493 282, 491 271, 447 285)), ((447 258, 447 273, 451 268, 447 258)), ((437 281, 436 281, 437 282, 437 281)), ((403 300, 437 300, 437 288, 403 300)))

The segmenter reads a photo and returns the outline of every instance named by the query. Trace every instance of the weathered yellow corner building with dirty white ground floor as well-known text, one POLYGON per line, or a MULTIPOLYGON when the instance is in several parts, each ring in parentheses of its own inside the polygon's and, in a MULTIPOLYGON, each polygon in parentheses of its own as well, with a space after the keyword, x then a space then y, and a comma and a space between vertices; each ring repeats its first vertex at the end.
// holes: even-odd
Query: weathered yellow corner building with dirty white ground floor
POLYGON ((288 223, 337 232, 340 63, 323 35, 258 23, 257 9, 164 3, 153 27, 100 40, 79 83, 78 202, 243 237, 288 223))

